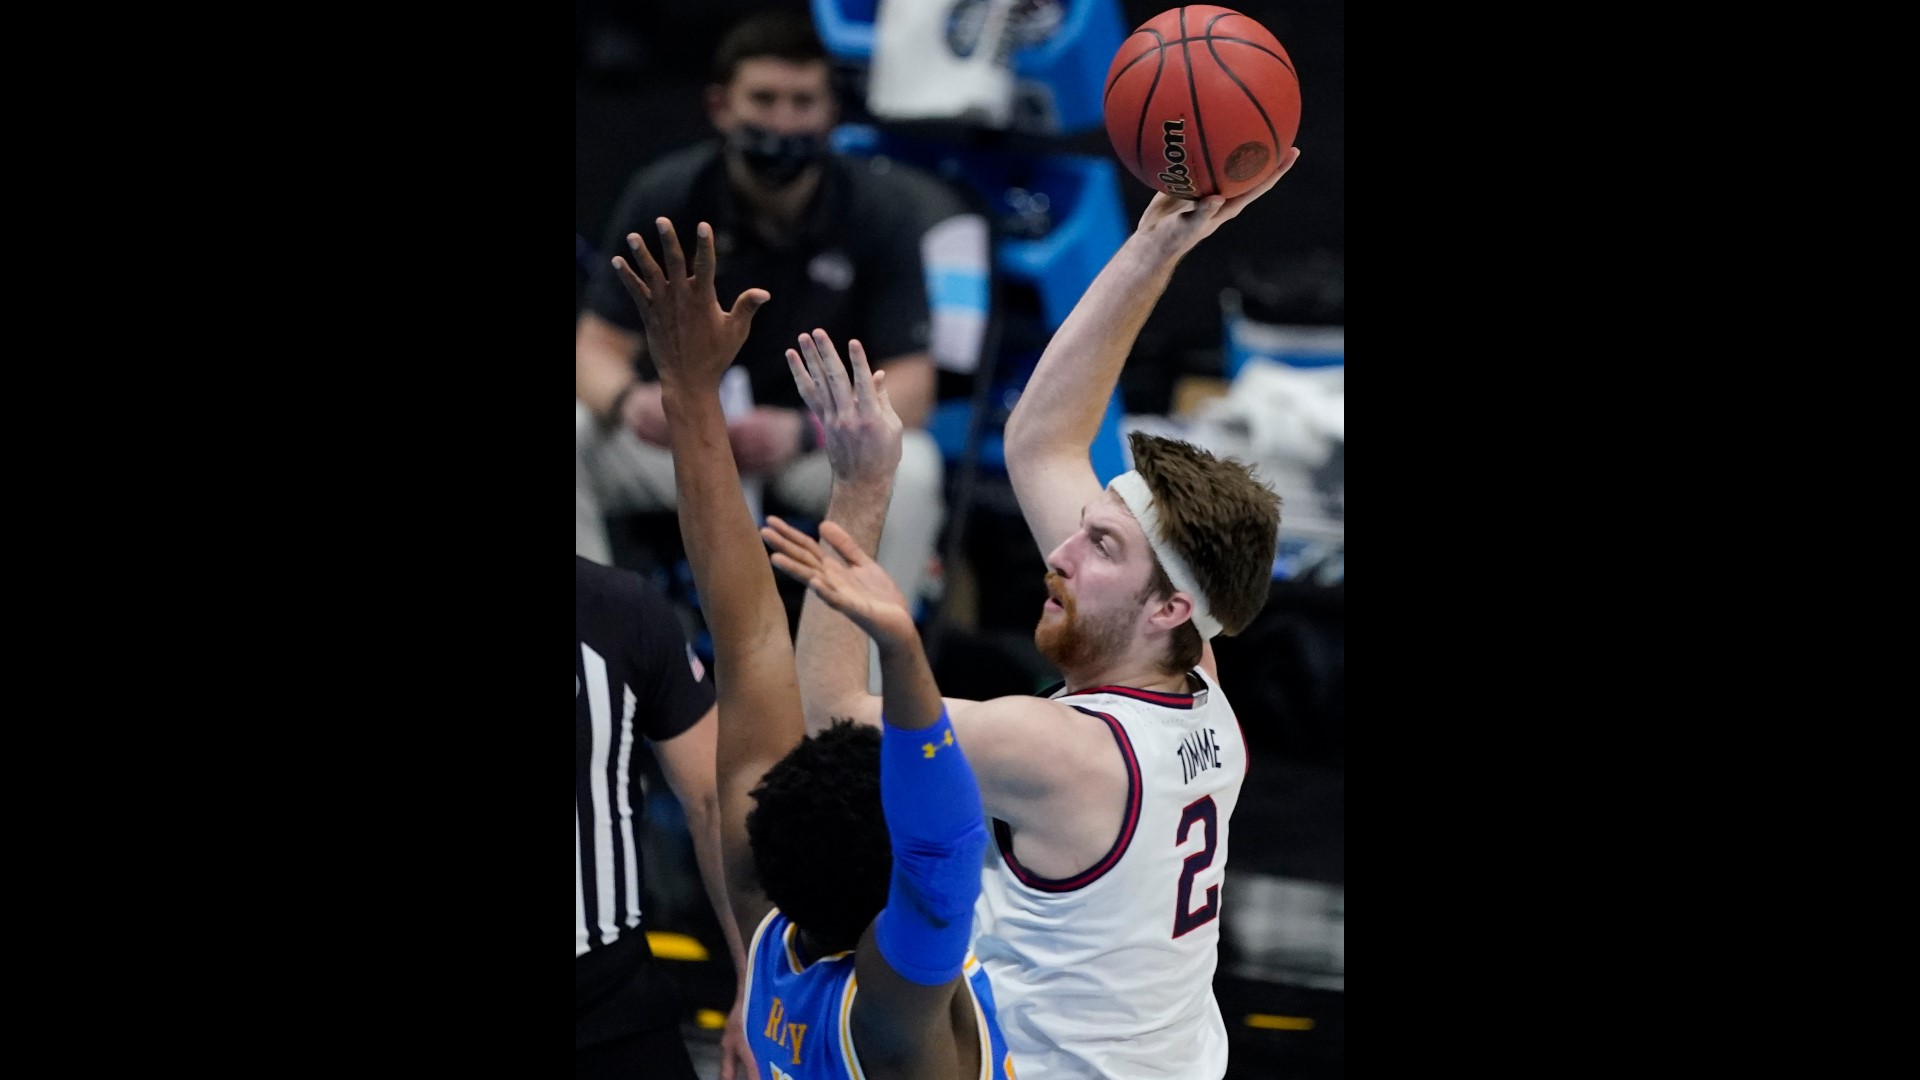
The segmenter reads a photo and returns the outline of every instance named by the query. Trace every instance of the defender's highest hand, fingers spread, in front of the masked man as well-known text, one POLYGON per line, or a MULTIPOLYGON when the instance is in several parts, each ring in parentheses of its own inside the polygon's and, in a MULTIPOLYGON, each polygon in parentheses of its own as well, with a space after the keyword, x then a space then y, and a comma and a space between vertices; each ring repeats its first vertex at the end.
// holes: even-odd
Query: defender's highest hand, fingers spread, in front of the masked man
POLYGON ((753 313, 770 296, 764 288, 749 288, 733 300, 732 311, 722 311, 714 300, 712 227, 699 223, 693 273, 687 273, 674 223, 657 217, 655 225, 660 227, 660 258, 666 261, 666 271, 653 261, 653 252, 641 242, 639 233, 626 234, 639 269, 630 267, 620 256, 612 258, 612 269, 639 306, 639 319, 647 325, 647 352, 660 371, 660 382, 680 380, 716 388, 720 375, 747 342, 753 313))

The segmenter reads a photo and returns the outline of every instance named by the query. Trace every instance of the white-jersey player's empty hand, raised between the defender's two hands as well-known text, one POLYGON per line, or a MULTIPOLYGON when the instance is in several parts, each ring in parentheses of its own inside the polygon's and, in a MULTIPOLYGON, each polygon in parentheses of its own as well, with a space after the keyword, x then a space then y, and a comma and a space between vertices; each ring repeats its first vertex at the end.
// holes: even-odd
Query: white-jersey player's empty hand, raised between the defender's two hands
POLYGON ((806 407, 820 417, 833 479, 891 484, 900 467, 900 417, 887 400, 885 371, 866 365, 858 338, 847 342, 852 379, 826 331, 801 334, 799 352, 787 350, 787 371, 806 407))

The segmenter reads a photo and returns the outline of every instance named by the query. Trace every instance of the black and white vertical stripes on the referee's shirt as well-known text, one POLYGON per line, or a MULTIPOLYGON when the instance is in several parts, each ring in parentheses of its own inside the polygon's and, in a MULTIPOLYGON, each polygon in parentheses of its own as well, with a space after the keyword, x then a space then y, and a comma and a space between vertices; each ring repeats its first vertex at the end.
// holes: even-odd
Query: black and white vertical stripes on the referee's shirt
POLYGON ((591 715, 586 796, 574 786, 574 955, 611 945, 639 926, 639 846, 634 836, 634 690, 614 686, 607 659, 580 644, 582 692, 591 715), (620 696, 620 721, 612 700, 620 696))

